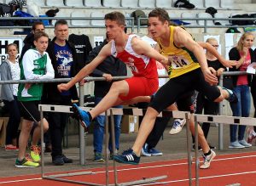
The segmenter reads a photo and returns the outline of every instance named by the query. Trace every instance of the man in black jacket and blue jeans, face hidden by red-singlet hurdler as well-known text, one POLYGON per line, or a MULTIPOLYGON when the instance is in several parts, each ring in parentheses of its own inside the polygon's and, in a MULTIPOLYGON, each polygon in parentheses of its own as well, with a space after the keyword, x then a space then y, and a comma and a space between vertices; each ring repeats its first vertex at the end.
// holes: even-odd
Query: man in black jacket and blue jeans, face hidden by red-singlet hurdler
MULTIPOLYGON (((108 36, 107 36, 108 37, 108 36)), ((86 65, 90 63, 96 56, 100 53, 102 48, 108 43, 108 38, 102 42, 102 44, 90 52, 86 65)), ((95 70, 90 74, 90 76, 101 76, 106 79, 106 81, 96 81, 95 82, 95 104, 98 104, 102 98, 108 93, 111 85, 113 76, 126 76, 127 70, 126 65, 120 61, 120 59, 109 56, 105 59, 102 64, 98 65, 95 70)), ((115 106, 115 108, 122 108, 122 106, 115 106)), ((119 149, 119 136, 120 136, 120 121, 122 116, 114 116, 114 133, 115 133, 115 148, 119 149)), ((95 157, 94 161, 104 161, 102 158, 102 144, 104 137, 104 127, 105 127, 105 116, 97 116, 95 119, 95 126, 93 131, 93 145, 95 157)), ((113 155, 112 148, 112 138, 110 135, 108 149, 110 155, 113 155)))

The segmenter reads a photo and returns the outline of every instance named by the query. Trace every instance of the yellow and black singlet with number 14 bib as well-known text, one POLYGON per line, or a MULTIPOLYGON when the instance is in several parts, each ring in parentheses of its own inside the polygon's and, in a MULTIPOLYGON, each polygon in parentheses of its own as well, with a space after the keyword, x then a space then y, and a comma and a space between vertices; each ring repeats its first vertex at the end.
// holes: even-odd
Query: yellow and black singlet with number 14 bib
POLYGON ((168 74, 170 78, 181 76, 189 71, 200 68, 195 55, 188 48, 178 48, 173 42, 173 31, 175 26, 170 25, 170 44, 165 47, 161 44, 160 39, 157 40, 160 46, 160 54, 165 55, 172 62, 169 67, 168 74))

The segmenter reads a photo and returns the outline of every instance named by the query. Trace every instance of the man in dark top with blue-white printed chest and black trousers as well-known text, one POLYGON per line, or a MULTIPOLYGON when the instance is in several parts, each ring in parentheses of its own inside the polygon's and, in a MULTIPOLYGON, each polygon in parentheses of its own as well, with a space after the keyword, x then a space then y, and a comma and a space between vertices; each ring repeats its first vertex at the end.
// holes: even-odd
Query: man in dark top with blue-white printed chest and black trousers
MULTIPOLYGON (((70 78, 75 76, 79 71, 76 50, 73 44, 67 42, 67 37, 67 21, 57 20, 55 22, 55 37, 47 48, 49 58, 55 70, 55 78, 70 78)), ((71 105, 72 99, 78 100, 78 93, 75 86, 69 91, 60 93, 57 90, 57 83, 47 83, 44 95, 46 104, 71 105)), ((52 145, 52 163, 56 166, 62 166, 64 163, 72 163, 72 159, 63 155, 61 146, 69 115, 59 112, 50 112, 48 114, 52 145)))

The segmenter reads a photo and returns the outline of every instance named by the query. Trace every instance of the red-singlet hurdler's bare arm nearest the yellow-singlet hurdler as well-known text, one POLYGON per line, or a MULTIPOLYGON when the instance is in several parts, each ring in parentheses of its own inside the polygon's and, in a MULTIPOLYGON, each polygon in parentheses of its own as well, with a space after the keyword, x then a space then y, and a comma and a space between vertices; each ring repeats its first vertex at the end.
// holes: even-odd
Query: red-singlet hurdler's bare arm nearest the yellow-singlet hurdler
POLYGON ((168 58, 166 58, 165 56, 160 54, 158 51, 156 51, 154 48, 152 48, 148 44, 148 42, 144 42, 144 41, 140 40, 139 38, 134 37, 131 40, 131 45, 132 45, 134 52, 136 52, 137 54, 146 55, 149 58, 153 58, 153 59, 159 61, 163 65, 169 65, 168 58))

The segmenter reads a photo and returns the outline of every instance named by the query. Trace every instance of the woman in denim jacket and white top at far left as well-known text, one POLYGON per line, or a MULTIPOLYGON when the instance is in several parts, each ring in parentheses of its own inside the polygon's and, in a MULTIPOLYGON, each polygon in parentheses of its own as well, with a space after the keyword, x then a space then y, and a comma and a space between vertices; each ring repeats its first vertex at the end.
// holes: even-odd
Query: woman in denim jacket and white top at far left
MULTIPOLYGON (((11 43, 7 46, 8 59, 0 65, 0 75, 2 81, 20 80, 20 65, 16 59, 18 46, 11 43)), ((3 84, 1 89, 1 99, 9 110, 9 121, 6 128, 5 149, 19 149, 17 147, 17 132, 20 125, 20 103, 17 100, 18 84, 3 84)))

